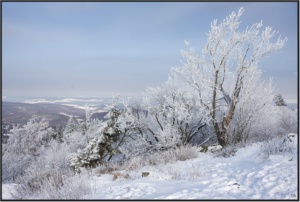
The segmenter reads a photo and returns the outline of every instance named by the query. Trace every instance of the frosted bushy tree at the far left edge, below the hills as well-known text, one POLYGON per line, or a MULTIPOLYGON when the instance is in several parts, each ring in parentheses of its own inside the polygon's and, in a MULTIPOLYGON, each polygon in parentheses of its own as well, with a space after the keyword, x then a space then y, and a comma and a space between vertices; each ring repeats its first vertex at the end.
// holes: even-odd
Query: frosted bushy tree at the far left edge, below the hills
POLYGON ((44 153, 54 130, 45 118, 39 120, 38 116, 32 116, 25 127, 12 129, 7 144, 2 144, 2 182, 13 182, 44 153))

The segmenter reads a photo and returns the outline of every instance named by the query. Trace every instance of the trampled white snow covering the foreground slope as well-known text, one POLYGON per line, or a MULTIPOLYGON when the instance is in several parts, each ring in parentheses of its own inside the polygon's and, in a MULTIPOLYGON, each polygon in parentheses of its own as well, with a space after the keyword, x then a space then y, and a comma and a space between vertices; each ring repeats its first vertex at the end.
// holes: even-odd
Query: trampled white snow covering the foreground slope
MULTIPOLYGON (((91 178, 92 193, 83 199, 298 200, 298 151, 263 162, 259 147, 241 148, 229 158, 199 152, 196 159, 143 167, 140 172, 119 171, 129 179, 103 174, 91 178), (142 172, 149 175, 142 177, 142 172)), ((14 186, 2 184, 2 199, 13 199, 9 191, 14 186)))

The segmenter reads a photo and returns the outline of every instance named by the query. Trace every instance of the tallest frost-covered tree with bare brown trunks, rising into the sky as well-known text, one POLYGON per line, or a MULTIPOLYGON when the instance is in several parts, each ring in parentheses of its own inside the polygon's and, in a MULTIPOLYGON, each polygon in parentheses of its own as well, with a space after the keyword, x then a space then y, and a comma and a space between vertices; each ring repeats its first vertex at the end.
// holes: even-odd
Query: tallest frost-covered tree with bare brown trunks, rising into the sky
MULTIPOLYGON (((259 103, 252 104, 257 102, 257 99, 248 101, 243 98, 249 94, 246 88, 256 86, 252 96, 262 97, 263 100, 259 102, 266 102, 269 92, 258 88, 264 82, 260 79, 261 69, 258 68, 257 63, 269 57, 271 53, 277 53, 287 40, 287 38, 280 40, 279 37, 277 42, 270 43, 270 39, 278 32, 272 32, 270 27, 266 27, 259 35, 262 22, 240 31, 239 18, 243 11, 241 8, 237 14, 233 12, 220 24, 217 20, 211 23, 212 29, 207 33, 207 43, 202 54, 195 54, 186 42, 188 51, 181 50, 181 53, 187 62, 183 62, 184 66, 181 68, 172 69, 175 79, 184 82, 190 89, 190 94, 198 96, 200 105, 211 117, 214 134, 223 146, 230 144, 232 139, 239 139, 232 138, 235 135, 234 129, 243 131, 249 126, 246 122, 240 122, 238 129, 232 128, 234 116, 246 114, 252 107, 261 108, 261 105, 257 105, 259 103), (249 77, 259 79, 252 81, 249 77), (243 107, 239 107, 242 105, 243 107), (230 127, 232 130, 229 131, 230 127)), ((245 117, 241 121, 258 118, 257 116, 245 117)), ((247 137, 247 134, 244 137, 247 137)))

